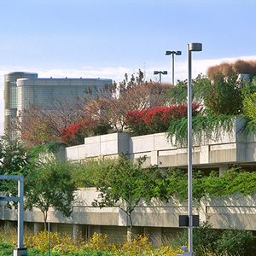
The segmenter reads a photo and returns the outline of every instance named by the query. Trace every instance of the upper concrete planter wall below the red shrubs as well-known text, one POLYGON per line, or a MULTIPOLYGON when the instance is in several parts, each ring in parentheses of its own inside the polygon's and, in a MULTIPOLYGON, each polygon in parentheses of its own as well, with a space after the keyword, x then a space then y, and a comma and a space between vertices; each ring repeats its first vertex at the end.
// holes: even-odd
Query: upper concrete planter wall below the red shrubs
MULTIPOLYGON (((192 161, 195 167, 219 167, 223 165, 256 161, 256 137, 245 137, 241 129, 245 119, 236 117, 232 131, 219 131, 216 140, 202 135, 195 137, 192 161)), ((173 139, 175 141, 175 138, 173 139)), ((87 137, 84 144, 66 148, 69 160, 81 160, 97 156, 119 156, 128 152, 131 159, 148 156, 147 164, 161 167, 187 166, 187 148, 172 145, 165 133, 131 137, 129 133, 113 133, 97 137, 87 137)))

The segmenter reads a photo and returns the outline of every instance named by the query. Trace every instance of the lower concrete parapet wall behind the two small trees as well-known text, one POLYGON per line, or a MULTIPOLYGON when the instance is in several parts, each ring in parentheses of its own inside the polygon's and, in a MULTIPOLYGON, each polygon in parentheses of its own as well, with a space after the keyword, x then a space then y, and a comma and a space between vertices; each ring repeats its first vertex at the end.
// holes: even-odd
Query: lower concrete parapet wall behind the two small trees
MULTIPOLYGON (((92 207, 91 203, 97 198, 95 188, 79 189, 76 192, 76 201, 73 204, 73 215, 70 218, 62 216, 61 212, 50 209, 50 222, 55 224, 83 224, 129 226, 129 220, 118 207, 92 207)), ((256 230, 256 195, 228 196, 224 199, 205 199, 200 204, 194 202, 193 214, 199 214, 200 220, 209 218, 216 229, 247 229, 256 230)), ((15 221, 17 211, 10 210, 2 202, 0 219, 15 221)), ((132 213, 133 225, 137 227, 172 227, 178 228, 178 216, 188 214, 187 202, 182 204, 172 198, 167 204, 153 200, 150 205, 141 202, 140 207, 132 213)), ((26 211, 24 221, 28 223, 43 223, 43 214, 37 208, 32 212, 26 211)))

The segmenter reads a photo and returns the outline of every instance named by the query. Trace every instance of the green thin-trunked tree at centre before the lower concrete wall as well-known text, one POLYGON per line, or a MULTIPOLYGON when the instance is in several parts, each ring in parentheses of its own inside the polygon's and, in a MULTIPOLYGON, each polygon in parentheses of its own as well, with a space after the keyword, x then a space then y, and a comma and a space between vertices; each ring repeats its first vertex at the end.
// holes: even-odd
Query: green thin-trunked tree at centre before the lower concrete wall
MULTIPOLYGON (((119 207, 130 220, 132 235, 131 212, 139 207, 142 201, 148 204, 154 197, 166 200, 165 176, 158 166, 143 168, 145 157, 132 163, 125 154, 118 160, 105 166, 99 177, 96 189, 100 192, 99 199, 92 203, 93 207, 119 207)), ((128 236, 131 239, 131 236, 128 236)))

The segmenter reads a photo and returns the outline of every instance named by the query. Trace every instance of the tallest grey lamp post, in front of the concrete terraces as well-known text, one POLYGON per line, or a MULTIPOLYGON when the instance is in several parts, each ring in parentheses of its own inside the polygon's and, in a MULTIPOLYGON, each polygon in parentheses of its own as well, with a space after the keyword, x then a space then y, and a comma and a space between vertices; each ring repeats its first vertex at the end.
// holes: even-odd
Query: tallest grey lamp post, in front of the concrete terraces
POLYGON ((192 88, 191 88, 191 56, 192 51, 201 51, 201 43, 188 44, 188 194, 189 194, 189 255, 193 253, 193 215, 192 215, 192 88))

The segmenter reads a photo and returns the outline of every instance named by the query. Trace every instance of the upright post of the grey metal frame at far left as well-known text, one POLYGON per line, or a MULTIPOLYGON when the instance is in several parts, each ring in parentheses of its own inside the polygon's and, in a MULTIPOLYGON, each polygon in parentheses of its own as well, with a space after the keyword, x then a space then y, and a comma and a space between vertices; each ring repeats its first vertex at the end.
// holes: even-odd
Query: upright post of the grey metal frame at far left
POLYGON ((24 177, 20 176, 18 180, 18 248, 23 248, 23 195, 24 195, 24 177))

